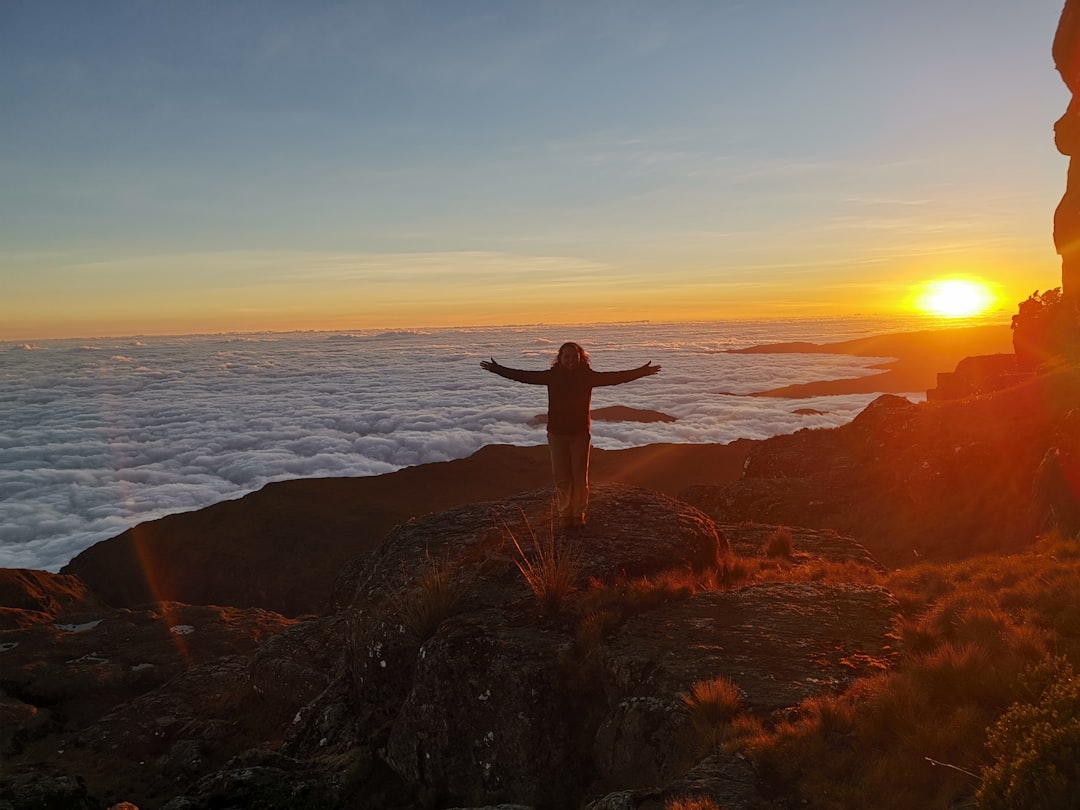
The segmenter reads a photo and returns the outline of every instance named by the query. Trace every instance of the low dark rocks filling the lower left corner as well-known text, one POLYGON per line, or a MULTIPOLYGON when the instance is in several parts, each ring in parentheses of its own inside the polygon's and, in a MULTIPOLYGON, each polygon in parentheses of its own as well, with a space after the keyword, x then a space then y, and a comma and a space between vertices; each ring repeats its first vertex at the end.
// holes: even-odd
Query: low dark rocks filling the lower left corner
MULTIPOLYGON (((73 579, 43 578, 63 589, 73 579)), ((85 607, 0 634, 5 793, 38 791, 41 806, 81 806, 69 802, 90 802, 83 794, 92 785, 98 799, 147 800, 238 746, 280 734, 284 720, 274 723, 270 701, 255 690, 252 657, 295 621, 178 603, 85 607), (40 778, 54 770, 56 780, 43 786, 40 778), (76 774, 81 794, 66 780, 76 774)))

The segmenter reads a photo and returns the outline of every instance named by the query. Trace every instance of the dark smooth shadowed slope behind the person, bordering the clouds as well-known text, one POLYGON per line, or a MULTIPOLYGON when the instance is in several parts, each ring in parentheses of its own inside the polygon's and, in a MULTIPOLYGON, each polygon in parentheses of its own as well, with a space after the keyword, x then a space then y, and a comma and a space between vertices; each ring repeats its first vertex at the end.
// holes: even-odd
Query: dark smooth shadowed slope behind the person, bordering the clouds
MULTIPOLYGON (((757 443, 596 450, 592 478, 675 495, 735 481, 757 443)), ((469 458, 387 475, 301 478, 150 521, 79 554, 78 575, 113 606, 154 600, 323 610, 342 564, 410 517, 549 486, 548 448, 484 447, 469 458)))

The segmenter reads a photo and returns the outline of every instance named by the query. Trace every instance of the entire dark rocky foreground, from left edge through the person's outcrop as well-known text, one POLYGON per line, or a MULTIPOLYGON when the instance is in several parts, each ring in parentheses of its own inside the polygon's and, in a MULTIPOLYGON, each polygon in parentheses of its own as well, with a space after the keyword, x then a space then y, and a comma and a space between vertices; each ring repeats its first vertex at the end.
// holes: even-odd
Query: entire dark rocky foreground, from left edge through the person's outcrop
MULTIPOLYGON (((725 676, 768 715, 891 665, 880 589, 660 584, 762 554, 774 526, 717 530, 621 485, 595 487, 583 530, 551 532, 550 514, 543 488, 406 522, 345 567, 322 619, 160 604, 4 633, 4 799, 766 808, 683 696, 725 676), (544 600, 522 566, 549 552, 573 590, 544 600)), ((877 565, 834 532, 792 537, 789 565, 877 565)))

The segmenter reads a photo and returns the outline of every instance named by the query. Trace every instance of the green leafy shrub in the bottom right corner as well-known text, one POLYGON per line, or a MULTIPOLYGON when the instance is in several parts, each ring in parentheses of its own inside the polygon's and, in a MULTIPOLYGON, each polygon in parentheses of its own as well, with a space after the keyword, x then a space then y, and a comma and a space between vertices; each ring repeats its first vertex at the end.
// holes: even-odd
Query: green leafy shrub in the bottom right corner
POLYGON ((975 796, 981 810, 1069 810, 1080 795, 1080 678, 1064 658, 1048 658, 987 737, 994 762, 975 796))

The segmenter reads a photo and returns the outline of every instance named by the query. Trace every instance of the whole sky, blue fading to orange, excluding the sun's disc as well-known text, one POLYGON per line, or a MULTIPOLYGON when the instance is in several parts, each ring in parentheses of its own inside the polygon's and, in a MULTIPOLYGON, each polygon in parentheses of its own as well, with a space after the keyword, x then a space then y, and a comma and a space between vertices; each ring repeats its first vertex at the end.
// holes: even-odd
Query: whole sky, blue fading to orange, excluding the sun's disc
POLYGON ((1061 284, 1063 0, 0 0, 0 339, 1061 284))

